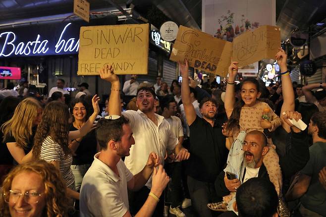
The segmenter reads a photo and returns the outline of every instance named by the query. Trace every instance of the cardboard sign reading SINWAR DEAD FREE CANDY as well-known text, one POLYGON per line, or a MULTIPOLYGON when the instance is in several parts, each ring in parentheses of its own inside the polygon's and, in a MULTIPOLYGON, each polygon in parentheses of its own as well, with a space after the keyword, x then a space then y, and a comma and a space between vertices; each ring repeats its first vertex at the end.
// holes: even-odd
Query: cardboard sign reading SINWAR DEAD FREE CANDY
POLYGON ((80 28, 78 75, 97 75, 106 64, 115 74, 147 74, 149 24, 80 28))

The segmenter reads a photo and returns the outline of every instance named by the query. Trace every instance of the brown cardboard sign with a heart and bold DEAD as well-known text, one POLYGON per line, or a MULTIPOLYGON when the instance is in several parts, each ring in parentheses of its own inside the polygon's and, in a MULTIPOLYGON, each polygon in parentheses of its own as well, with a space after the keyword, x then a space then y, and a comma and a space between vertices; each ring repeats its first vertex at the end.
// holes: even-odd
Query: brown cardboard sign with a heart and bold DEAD
POLYGON ((184 62, 188 59, 191 67, 225 77, 231 56, 232 43, 180 26, 170 60, 184 62))

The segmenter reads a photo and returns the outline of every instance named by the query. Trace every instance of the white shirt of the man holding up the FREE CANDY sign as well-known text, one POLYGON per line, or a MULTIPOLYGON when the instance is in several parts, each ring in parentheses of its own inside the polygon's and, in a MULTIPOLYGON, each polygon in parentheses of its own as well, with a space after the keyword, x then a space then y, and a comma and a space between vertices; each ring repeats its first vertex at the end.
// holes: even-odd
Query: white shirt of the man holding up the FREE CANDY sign
MULTIPOLYGON (((132 174, 137 174, 144 168, 151 152, 157 153, 161 158, 161 163, 164 164, 166 149, 172 151, 178 143, 178 139, 170 130, 170 125, 164 117, 155 114, 158 118, 157 126, 139 109, 138 111, 124 111, 122 115, 129 119, 135 138, 135 145, 130 148, 130 156, 124 160, 132 174)), ((146 186, 152 187, 152 176, 146 186)))

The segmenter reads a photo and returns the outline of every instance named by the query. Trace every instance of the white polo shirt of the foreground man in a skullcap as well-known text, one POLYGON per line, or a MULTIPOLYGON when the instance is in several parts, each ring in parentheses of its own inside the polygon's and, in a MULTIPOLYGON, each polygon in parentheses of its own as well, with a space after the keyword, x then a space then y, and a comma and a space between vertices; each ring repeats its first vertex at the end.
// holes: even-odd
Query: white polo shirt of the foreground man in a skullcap
POLYGON ((133 177, 123 161, 116 164, 119 175, 94 156, 80 190, 81 217, 122 217, 129 210, 127 182, 133 177))

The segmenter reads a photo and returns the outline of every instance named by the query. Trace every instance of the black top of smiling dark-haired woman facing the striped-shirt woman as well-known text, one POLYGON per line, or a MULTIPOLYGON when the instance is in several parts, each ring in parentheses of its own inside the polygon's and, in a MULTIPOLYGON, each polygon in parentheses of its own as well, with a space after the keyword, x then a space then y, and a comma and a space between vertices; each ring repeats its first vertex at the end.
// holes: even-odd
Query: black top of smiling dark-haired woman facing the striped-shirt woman
MULTIPOLYGON (((71 124, 70 131, 78 130, 71 124)), ((90 131, 83 139, 75 152, 75 156, 72 156, 72 165, 90 164, 94 161, 94 155, 96 154, 96 134, 95 130, 90 131)))

